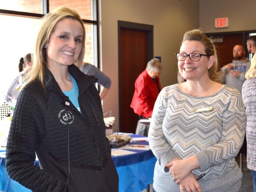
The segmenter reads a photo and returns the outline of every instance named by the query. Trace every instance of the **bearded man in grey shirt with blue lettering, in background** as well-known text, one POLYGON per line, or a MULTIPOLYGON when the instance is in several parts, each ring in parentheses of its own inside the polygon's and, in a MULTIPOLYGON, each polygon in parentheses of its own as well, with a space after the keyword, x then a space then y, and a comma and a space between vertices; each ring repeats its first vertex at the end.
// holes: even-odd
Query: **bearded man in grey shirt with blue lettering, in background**
POLYGON ((221 68, 225 74, 223 83, 242 91, 245 81, 245 74, 250 67, 250 60, 245 58, 245 50, 242 45, 235 45, 233 48, 234 60, 221 68))

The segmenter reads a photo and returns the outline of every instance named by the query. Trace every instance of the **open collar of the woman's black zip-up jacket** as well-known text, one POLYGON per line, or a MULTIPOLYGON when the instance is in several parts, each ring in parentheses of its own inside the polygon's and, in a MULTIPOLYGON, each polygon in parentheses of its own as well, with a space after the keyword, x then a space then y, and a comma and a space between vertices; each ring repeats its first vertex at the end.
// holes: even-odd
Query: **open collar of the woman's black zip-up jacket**
MULTIPOLYGON (((68 67, 68 72, 74 77, 78 85, 79 95, 85 92, 93 83, 95 83, 98 80, 94 76, 85 75, 74 64, 68 67)), ((47 67, 45 68, 44 82, 46 84, 46 87, 49 88, 50 90, 56 91, 56 92, 62 92, 53 74, 50 72, 50 70, 47 67)))

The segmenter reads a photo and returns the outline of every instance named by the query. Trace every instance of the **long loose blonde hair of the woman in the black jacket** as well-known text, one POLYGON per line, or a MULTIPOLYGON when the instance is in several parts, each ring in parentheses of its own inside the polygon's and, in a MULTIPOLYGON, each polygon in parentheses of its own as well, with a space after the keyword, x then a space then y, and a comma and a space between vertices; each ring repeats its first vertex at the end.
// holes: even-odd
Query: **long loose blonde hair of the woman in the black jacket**
POLYGON ((74 63, 79 68, 82 66, 82 62, 85 54, 85 28, 83 25, 83 21, 75 10, 70 8, 65 8, 65 7, 59 7, 54 9, 53 12, 46 14, 42 19, 42 23, 39 27, 39 31, 37 34, 37 40, 35 44, 35 53, 33 54, 33 57, 32 57, 33 67, 27 74, 28 76, 27 83, 30 83, 32 81, 39 79, 39 81, 45 87, 44 72, 45 72, 45 67, 47 67, 46 66, 47 55, 46 55, 46 49, 44 48, 44 45, 49 41, 50 35, 54 32, 57 23, 64 18, 72 18, 74 20, 79 21, 82 25, 82 29, 83 29, 82 50, 78 57, 78 60, 75 61, 74 63))

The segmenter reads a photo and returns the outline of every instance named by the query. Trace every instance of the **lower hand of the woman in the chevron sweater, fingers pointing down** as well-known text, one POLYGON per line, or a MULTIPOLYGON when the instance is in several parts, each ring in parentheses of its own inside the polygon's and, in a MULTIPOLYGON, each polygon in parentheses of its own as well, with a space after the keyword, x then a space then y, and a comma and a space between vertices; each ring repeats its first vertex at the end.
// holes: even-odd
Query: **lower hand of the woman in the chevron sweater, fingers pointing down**
POLYGON ((187 177, 185 177, 180 183, 180 191, 184 192, 184 188, 186 192, 202 192, 200 184, 195 179, 195 175, 190 173, 187 177))

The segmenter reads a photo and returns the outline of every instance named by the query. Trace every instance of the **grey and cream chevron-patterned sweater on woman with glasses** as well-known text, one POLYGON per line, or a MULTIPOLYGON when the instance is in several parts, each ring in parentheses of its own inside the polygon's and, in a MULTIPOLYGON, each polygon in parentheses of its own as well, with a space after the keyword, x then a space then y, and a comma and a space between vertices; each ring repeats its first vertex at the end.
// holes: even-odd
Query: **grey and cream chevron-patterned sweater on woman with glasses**
POLYGON ((155 102, 149 128, 150 148, 157 158, 154 184, 156 192, 179 192, 179 185, 166 172, 165 164, 174 158, 195 155, 200 168, 195 176, 203 192, 238 192, 242 172, 235 157, 243 144, 246 113, 238 90, 223 85, 208 97, 192 97, 178 89, 165 87, 155 102), (195 109, 213 107, 195 113, 195 109))

